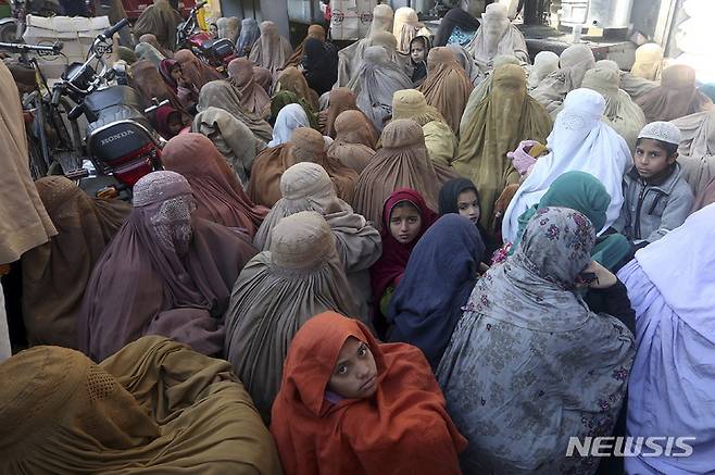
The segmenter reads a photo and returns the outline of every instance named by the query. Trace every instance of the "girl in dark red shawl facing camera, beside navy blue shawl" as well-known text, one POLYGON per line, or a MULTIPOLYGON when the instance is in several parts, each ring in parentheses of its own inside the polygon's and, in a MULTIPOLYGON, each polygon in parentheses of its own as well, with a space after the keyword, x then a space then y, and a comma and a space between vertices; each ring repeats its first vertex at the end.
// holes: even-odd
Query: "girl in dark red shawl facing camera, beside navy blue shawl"
POLYGON ((439 215, 427 208, 417 191, 402 188, 393 191, 382 207, 382 255, 369 268, 375 302, 375 327, 387 330, 385 315, 394 288, 402 279, 410 253, 423 234, 439 215))

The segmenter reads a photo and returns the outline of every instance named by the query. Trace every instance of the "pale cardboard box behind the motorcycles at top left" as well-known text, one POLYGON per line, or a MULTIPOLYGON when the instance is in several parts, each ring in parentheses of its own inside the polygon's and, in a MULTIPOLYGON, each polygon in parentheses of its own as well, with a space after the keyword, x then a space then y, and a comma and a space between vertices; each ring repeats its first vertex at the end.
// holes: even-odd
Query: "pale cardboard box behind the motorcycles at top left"
POLYGON ((68 64, 84 63, 95 38, 110 27, 106 16, 86 18, 84 16, 43 17, 27 15, 27 29, 23 35, 26 43, 52 45, 62 41, 59 57, 37 57, 37 63, 48 79, 59 78, 68 64))

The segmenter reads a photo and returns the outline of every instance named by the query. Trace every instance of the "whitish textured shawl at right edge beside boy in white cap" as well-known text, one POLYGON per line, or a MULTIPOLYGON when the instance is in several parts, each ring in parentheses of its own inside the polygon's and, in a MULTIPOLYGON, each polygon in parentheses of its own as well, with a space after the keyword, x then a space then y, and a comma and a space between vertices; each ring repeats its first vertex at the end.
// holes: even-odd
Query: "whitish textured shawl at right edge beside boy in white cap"
POLYGON ((676 118, 680 129, 678 163, 697 197, 715 178, 715 109, 676 118))

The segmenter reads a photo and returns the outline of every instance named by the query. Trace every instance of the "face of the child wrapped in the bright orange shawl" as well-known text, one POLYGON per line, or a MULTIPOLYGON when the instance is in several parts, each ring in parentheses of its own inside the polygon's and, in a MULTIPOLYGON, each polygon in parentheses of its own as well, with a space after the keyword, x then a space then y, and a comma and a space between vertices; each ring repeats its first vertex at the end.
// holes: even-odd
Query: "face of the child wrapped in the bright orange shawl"
POLYGON ((369 398, 377 390, 377 364, 363 341, 349 337, 342 345, 328 389, 346 399, 369 398))

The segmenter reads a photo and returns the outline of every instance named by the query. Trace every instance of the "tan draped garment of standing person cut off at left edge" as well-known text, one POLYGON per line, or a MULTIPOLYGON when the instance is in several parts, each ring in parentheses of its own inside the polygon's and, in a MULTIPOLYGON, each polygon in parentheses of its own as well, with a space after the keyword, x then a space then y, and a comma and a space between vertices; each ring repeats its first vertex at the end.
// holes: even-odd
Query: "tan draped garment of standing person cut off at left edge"
POLYGON ((23 109, 15 80, 4 63, 0 64, 0 264, 8 264, 58 232, 29 176, 23 109))

